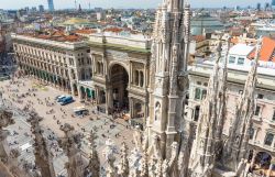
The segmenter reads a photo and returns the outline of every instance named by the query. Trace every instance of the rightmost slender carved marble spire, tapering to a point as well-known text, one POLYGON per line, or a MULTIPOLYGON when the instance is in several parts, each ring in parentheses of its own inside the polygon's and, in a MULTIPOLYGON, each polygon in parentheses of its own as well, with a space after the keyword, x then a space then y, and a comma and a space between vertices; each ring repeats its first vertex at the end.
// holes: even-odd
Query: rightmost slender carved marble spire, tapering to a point
POLYGON ((252 62, 251 70, 244 85, 243 93, 239 98, 235 108, 235 117, 230 129, 229 140, 226 144, 223 161, 226 166, 232 170, 237 170, 242 158, 246 157, 249 135, 252 126, 252 118, 255 109, 255 87, 256 87, 256 73, 257 63, 260 58, 260 51, 262 47, 262 37, 258 38, 256 44, 255 58, 252 62))

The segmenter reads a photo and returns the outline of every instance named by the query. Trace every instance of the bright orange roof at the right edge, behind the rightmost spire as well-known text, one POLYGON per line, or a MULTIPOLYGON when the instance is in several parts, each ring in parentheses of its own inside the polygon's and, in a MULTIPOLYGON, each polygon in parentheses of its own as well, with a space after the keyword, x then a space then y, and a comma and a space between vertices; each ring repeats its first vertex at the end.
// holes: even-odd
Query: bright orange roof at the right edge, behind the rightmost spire
MULTIPOLYGON (((249 58, 255 57, 255 49, 250 54, 249 58)), ((263 37, 263 44, 260 52, 260 60, 275 62, 275 40, 263 37)))

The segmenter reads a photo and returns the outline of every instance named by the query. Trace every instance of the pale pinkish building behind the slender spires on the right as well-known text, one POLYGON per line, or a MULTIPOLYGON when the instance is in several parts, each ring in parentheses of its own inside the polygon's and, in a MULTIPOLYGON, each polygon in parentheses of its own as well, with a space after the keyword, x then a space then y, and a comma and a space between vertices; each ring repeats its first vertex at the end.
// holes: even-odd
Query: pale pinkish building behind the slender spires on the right
MULTIPOLYGON (((274 173, 273 164, 275 161, 275 97, 274 97, 274 69, 265 67, 264 57, 266 47, 265 40, 260 55, 260 66, 257 68, 257 85, 255 88, 255 108, 252 117, 252 128, 249 133, 249 145, 246 152, 248 159, 255 165, 257 174, 261 170, 274 173)), ((255 48, 255 46, 252 47, 255 48)), ((238 99, 243 93, 244 84, 248 78, 251 64, 230 63, 234 56, 235 59, 242 59, 243 56, 232 55, 232 48, 228 56, 228 86, 227 86, 227 119, 224 120, 223 136, 224 140, 230 135, 235 118, 235 108, 238 99)), ((252 52, 253 54, 253 52, 252 52)), ((189 66, 189 101, 186 119, 199 124, 202 115, 204 99, 208 92, 208 80, 213 70, 215 62, 202 62, 189 66)), ((196 153, 196 152, 194 152, 196 153)), ((267 173, 266 173, 267 174, 267 173)))

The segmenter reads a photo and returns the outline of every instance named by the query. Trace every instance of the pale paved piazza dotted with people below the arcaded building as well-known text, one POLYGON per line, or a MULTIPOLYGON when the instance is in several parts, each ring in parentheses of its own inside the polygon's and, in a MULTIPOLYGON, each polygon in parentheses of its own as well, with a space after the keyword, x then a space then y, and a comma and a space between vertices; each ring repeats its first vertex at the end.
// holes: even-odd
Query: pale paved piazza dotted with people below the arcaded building
POLYGON ((11 80, 1 81, 0 90, 3 92, 6 107, 11 108, 14 112, 15 124, 7 128, 10 131, 8 143, 11 148, 20 150, 20 159, 34 164, 31 125, 26 121, 29 115, 23 111, 26 104, 31 104, 38 115, 44 118, 41 125, 44 129, 45 137, 48 140, 51 152, 54 154, 54 167, 57 175, 66 175, 64 164, 67 162, 67 157, 63 154, 56 141, 57 137, 64 135, 59 130, 59 126, 64 123, 69 123, 74 125, 77 132, 84 133, 81 151, 87 157, 90 153, 88 136, 91 130, 96 132, 97 148, 102 164, 105 164, 102 151, 108 139, 111 139, 118 146, 124 141, 130 150, 133 147, 133 130, 124 120, 112 120, 111 117, 98 113, 96 106, 85 106, 85 103, 80 103, 78 98, 74 98, 76 101, 70 104, 59 106, 54 98, 68 95, 68 92, 58 90, 53 86, 44 86, 33 78, 20 78, 14 81, 13 84, 11 80), (90 114, 84 118, 73 117, 74 108, 80 106, 89 108, 90 114), (52 112, 50 112, 51 110, 52 112), (111 129, 111 125, 113 129, 111 129))

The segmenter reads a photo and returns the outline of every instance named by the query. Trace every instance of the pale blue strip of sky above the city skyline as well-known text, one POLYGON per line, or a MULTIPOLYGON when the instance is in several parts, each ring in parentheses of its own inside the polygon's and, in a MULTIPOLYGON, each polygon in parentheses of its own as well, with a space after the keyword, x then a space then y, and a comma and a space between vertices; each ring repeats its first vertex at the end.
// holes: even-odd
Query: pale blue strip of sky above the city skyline
MULTIPOLYGON (((76 0, 82 8, 156 8, 163 0, 76 0)), ((257 2, 264 4, 272 0, 188 0, 194 8, 217 7, 255 7, 257 2)), ((47 8, 47 0, 0 0, 0 9, 19 9, 23 7, 37 7, 43 4, 47 8)), ((75 0, 54 0, 55 9, 74 8, 75 0)))

